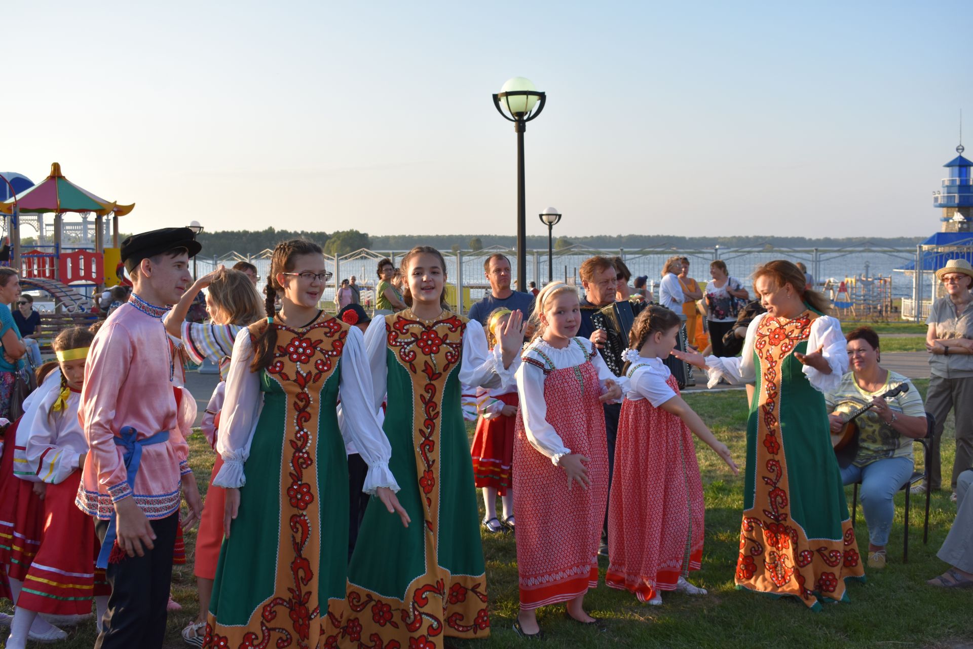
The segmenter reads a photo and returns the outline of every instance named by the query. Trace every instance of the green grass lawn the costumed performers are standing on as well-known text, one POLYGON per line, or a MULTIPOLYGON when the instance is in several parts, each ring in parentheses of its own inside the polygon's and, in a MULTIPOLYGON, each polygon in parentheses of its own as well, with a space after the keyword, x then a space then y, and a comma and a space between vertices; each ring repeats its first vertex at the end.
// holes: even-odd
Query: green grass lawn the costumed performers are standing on
MULTIPOLYGON (((927 381, 916 381, 925 393, 927 381)), ((689 395, 687 401, 742 464, 746 408, 742 391, 689 395)), ((952 415, 947 423, 943 467, 948 478, 955 446, 952 415)), ((584 629, 564 619, 562 606, 539 611, 548 639, 545 647, 960 647, 973 638, 973 592, 942 592, 924 584, 946 569, 936 552, 955 518, 948 492, 933 494, 929 543, 922 545, 922 502, 913 499, 910 559, 902 563, 904 495, 896 498, 896 519, 888 545, 888 565, 882 571, 866 568, 866 584, 849 584, 851 602, 806 610, 793 598, 773 600, 737 591, 734 570, 742 509, 742 475, 735 478, 707 447, 698 448, 706 501, 706 539, 703 570, 691 580, 709 595, 665 594, 660 607, 640 604, 632 595, 601 585, 587 599, 588 610, 604 619, 607 632, 584 629)), ((919 453, 920 454, 920 453, 919 453)), ((918 458, 920 461, 920 458, 918 458)), ((190 461, 200 484, 209 476, 213 454, 201 435, 192 440, 190 461)), ((851 491, 847 489, 850 503, 851 491)), ((856 532, 859 549, 868 549, 868 533, 859 507, 856 532)), ((166 647, 183 647, 179 631, 196 615, 196 581, 192 555, 195 534, 186 534, 189 563, 173 571, 173 595, 183 610, 169 615, 166 647)), ((486 535, 486 571, 491 601, 492 631, 486 640, 450 641, 470 649, 523 648, 511 629, 517 615, 517 564, 512 535, 486 535)), ((602 570, 606 567, 602 560, 602 570)), ((602 573, 603 577, 603 573, 602 573)), ((94 642, 94 623, 73 631, 57 646, 88 649, 94 642)))

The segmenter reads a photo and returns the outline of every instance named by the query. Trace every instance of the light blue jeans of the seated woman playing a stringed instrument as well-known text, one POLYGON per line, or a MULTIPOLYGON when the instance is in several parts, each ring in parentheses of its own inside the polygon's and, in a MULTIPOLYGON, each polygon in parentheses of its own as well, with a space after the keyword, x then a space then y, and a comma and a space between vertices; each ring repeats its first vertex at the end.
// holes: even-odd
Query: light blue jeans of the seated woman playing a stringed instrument
POLYGON ((851 485, 861 481, 858 489, 861 509, 868 523, 868 536, 872 545, 888 545, 888 532, 895 517, 892 497, 912 476, 911 457, 887 457, 866 464, 849 464, 842 469, 842 482, 851 485))

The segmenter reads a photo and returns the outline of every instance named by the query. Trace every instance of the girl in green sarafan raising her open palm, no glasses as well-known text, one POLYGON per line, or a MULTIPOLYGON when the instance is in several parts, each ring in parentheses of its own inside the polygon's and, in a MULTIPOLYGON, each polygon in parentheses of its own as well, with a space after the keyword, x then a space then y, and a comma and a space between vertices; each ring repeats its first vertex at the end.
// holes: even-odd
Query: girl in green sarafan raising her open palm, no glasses
POLYGON ((490 352, 479 322, 442 303, 446 261, 435 248, 402 260, 409 308, 376 318, 365 333, 375 406, 387 392, 389 468, 413 521, 365 512, 348 566, 342 647, 443 647, 445 637, 486 637, 486 570, 461 384, 512 379, 523 346, 514 311, 490 352))

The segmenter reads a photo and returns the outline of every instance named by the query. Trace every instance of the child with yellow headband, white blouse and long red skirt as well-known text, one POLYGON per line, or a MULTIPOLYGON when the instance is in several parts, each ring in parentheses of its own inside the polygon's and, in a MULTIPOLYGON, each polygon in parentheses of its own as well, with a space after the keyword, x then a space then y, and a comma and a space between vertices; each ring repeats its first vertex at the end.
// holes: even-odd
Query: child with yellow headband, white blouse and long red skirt
POLYGON ((30 587, 18 589, 8 647, 25 645, 38 613, 87 615, 93 596, 100 620, 108 605, 104 572, 94 569, 94 522, 74 504, 88 454, 78 408, 93 338, 82 327, 57 335, 53 346, 60 384, 40 397, 36 414, 24 422, 29 433, 23 455, 15 457, 14 474, 24 481, 20 488, 32 489, 35 499, 30 507, 18 506, 15 534, 31 539, 36 554, 12 556, 9 577, 30 587))

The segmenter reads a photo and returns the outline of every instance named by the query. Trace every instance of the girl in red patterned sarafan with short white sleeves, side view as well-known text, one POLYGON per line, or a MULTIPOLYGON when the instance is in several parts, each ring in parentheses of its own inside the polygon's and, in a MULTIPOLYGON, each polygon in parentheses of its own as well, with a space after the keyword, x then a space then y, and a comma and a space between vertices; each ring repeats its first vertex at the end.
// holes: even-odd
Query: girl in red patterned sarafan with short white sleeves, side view
POLYGON ((738 473, 730 450, 682 400, 663 363, 680 324, 675 312, 649 306, 632 325, 608 499, 605 583, 656 605, 661 591, 706 594, 686 581, 703 559, 703 483, 690 432, 738 473))

